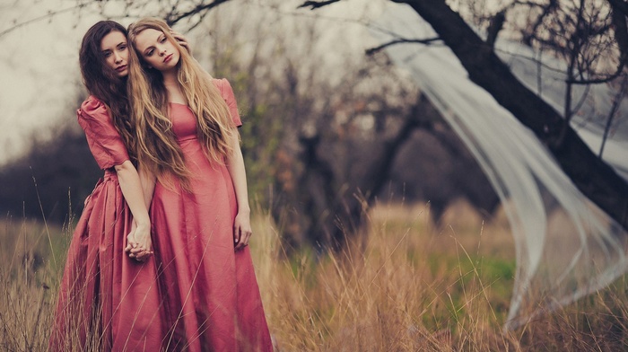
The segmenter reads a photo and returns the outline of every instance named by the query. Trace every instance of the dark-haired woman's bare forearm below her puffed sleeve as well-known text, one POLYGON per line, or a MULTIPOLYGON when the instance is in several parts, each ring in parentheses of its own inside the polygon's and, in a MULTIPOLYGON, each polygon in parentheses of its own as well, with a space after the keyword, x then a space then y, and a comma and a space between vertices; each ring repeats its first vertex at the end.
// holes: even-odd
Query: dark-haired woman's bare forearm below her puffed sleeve
POLYGON ((131 214, 133 214, 135 223, 150 224, 148 207, 144 199, 144 189, 135 166, 127 160, 120 165, 116 165, 116 172, 118 173, 118 182, 122 195, 125 197, 131 214))

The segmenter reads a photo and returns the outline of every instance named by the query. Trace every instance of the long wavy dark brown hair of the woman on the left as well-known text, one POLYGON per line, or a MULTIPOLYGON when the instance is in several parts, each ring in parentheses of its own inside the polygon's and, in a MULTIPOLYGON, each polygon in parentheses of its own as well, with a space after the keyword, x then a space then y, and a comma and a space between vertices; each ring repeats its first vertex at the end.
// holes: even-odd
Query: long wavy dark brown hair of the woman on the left
POLYGON ((85 33, 79 51, 81 75, 83 75, 83 84, 87 91, 109 108, 113 125, 122 136, 131 160, 135 161, 133 143, 135 128, 128 115, 126 77, 116 75, 116 72, 105 63, 105 57, 100 49, 100 42, 112 31, 119 31, 126 38, 126 29, 114 21, 96 22, 85 33))

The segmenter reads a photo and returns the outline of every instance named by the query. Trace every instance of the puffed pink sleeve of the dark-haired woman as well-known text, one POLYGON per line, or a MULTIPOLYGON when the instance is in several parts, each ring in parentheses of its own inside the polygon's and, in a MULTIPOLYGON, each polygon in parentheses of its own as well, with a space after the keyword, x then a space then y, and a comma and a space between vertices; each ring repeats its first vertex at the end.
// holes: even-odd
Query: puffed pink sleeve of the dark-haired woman
POLYGON ((83 101, 76 116, 100 169, 109 169, 129 160, 126 145, 102 101, 90 96, 83 101))

